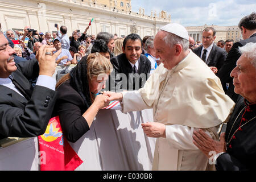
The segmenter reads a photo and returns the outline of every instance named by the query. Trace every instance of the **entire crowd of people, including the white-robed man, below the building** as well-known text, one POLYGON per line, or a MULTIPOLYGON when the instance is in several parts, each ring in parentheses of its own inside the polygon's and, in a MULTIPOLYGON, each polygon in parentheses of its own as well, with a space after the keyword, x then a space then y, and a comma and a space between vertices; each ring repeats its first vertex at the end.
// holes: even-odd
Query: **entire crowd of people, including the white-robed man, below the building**
POLYGON ((0 139, 42 135, 59 115, 76 142, 118 100, 123 113, 153 110, 154 122, 142 124, 157 138, 153 170, 255 169, 256 14, 238 26, 243 40, 217 44, 213 27, 201 43, 178 23, 144 38, 88 35, 89 26, 69 37, 58 24, 52 34, 0 31, 0 139), (56 82, 56 65, 70 64, 56 82))

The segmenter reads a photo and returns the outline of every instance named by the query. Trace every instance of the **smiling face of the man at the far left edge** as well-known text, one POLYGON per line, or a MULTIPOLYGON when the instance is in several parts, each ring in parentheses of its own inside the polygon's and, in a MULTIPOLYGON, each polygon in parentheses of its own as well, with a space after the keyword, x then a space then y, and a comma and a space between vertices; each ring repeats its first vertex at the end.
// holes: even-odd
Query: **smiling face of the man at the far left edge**
POLYGON ((3 34, 0 35, 0 77, 7 78, 17 67, 14 62, 14 49, 9 46, 8 40, 3 34))

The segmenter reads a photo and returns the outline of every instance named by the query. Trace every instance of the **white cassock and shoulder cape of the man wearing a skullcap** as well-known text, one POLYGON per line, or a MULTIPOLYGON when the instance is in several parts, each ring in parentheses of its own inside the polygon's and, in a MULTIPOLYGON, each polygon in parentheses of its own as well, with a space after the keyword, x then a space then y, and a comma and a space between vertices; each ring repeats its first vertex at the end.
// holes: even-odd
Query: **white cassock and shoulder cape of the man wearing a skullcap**
POLYGON ((160 64, 143 88, 122 92, 123 113, 153 108, 154 122, 166 125, 156 140, 153 170, 205 170, 208 158, 192 142, 193 130, 218 139, 220 124, 233 111, 220 79, 189 49, 174 68, 160 64))

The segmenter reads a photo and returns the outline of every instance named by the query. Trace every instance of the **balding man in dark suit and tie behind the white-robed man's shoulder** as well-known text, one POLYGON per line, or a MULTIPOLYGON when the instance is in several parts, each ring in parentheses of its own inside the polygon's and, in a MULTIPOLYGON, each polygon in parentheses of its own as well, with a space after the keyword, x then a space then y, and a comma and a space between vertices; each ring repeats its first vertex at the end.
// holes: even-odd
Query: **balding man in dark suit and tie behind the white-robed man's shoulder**
POLYGON ((218 76, 218 71, 226 59, 226 51, 213 44, 216 38, 215 34, 216 31, 213 27, 204 28, 202 36, 203 45, 193 49, 193 52, 218 76))

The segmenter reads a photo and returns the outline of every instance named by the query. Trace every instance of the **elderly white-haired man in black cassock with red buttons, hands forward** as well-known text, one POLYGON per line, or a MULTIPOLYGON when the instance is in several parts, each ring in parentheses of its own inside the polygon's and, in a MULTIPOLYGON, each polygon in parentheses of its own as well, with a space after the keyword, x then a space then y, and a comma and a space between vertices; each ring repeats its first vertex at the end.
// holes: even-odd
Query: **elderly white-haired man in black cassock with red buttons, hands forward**
POLYGON ((240 47, 241 57, 230 73, 234 92, 240 94, 220 141, 202 130, 193 143, 216 164, 217 170, 255 170, 256 163, 256 43, 240 47), (214 154, 212 156, 212 154, 214 154))

